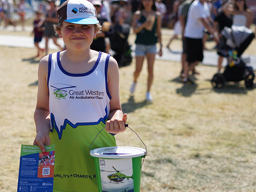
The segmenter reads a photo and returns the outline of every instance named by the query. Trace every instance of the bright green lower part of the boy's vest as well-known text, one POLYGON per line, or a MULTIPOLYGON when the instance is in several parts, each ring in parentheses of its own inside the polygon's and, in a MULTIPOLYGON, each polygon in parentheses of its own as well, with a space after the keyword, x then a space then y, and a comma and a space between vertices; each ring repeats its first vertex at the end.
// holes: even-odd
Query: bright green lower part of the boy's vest
MULTIPOLYGON (((97 178, 89 147, 93 139, 105 127, 86 125, 73 128, 69 125, 59 140, 56 130, 50 133, 51 144, 55 144, 54 192, 97 192, 97 178)), ((101 131, 92 148, 116 146, 115 138, 105 130, 101 131)))

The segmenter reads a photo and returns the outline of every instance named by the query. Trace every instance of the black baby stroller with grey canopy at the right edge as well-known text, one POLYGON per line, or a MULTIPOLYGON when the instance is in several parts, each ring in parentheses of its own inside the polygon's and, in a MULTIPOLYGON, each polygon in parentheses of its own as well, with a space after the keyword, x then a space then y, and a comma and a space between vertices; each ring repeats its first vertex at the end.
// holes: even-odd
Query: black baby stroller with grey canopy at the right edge
POLYGON ((246 65, 241 55, 255 38, 255 34, 245 26, 224 27, 221 34, 223 38, 218 45, 218 53, 227 58, 228 64, 222 74, 216 73, 213 76, 212 86, 223 88, 225 82, 245 80, 246 88, 253 88, 255 78, 253 68, 246 65))

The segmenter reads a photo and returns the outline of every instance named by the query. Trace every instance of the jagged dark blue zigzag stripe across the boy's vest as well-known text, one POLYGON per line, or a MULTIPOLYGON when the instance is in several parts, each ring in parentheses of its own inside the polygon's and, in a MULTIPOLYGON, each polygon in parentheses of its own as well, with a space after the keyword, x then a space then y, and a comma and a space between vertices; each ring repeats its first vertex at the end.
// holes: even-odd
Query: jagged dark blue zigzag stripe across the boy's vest
MULTIPOLYGON (((55 130, 57 131, 58 133, 58 136, 59 136, 59 140, 61 140, 61 137, 62 137, 62 132, 64 129, 66 129, 66 126, 67 124, 69 124, 72 128, 76 128, 78 126, 83 126, 83 125, 98 125, 100 124, 100 122, 106 124, 106 120, 107 120, 107 106, 105 108, 105 112, 106 112, 106 115, 103 117, 103 118, 100 118, 97 122, 90 122, 90 123, 76 123, 76 124, 73 124, 71 123, 68 119, 65 119, 64 120, 64 123, 63 123, 63 126, 61 125, 60 126, 60 130, 59 128, 57 127, 56 125, 56 122, 55 122, 55 117, 54 115, 51 113, 51 123, 52 123, 52 129, 55 128, 55 130)), ((50 130, 52 132, 52 130, 50 130)))

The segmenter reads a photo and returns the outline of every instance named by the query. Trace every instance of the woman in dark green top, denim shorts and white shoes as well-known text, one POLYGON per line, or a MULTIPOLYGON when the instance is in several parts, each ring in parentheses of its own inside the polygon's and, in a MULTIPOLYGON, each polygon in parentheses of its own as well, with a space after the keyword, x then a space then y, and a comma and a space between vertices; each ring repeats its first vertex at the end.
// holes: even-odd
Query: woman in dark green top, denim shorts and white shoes
POLYGON ((156 11, 155 0, 142 0, 141 9, 134 13, 132 27, 134 33, 137 34, 137 38, 135 40, 136 69, 130 92, 131 94, 135 92, 137 79, 146 56, 148 60, 146 100, 152 101, 153 98, 150 89, 153 82, 153 66, 157 42, 160 43, 159 56, 162 56, 161 14, 159 11, 156 11))

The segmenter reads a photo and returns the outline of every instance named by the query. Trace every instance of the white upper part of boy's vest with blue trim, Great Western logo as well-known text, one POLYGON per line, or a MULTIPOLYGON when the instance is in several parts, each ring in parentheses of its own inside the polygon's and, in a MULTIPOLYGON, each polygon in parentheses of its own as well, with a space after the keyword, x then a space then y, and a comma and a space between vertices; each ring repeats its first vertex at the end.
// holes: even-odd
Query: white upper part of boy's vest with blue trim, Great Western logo
POLYGON ((51 129, 55 127, 61 139, 67 123, 73 128, 105 123, 111 96, 107 88, 110 55, 99 52, 93 69, 71 74, 62 68, 59 53, 49 58, 48 89, 51 129))

